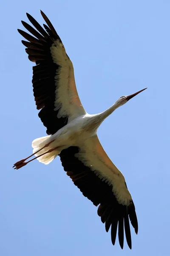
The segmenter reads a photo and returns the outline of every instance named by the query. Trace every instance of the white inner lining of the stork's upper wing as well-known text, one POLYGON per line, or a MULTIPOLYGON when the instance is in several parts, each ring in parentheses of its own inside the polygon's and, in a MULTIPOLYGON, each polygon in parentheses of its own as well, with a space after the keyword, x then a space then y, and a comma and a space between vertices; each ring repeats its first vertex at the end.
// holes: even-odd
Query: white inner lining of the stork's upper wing
POLYGON ((59 40, 56 40, 50 49, 54 63, 60 66, 55 76, 57 89, 54 110, 60 108, 57 117, 68 116, 68 122, 70 122, 72 119, 86 114, 77 93, 74 67, 59 40))

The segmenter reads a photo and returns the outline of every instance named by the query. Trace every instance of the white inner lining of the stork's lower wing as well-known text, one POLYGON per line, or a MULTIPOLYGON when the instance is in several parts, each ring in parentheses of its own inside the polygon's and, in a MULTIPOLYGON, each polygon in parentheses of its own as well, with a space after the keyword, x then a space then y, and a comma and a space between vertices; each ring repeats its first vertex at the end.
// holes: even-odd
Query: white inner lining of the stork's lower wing
POLYGON ((97 135, 85 140, 79 145, 79 148, 80 151, 75 156, 90 167, 100 179, 113 186, 113 193, 119 204, 128 206, 132 198, 127 189, 125 178, 106 154, 97 135))

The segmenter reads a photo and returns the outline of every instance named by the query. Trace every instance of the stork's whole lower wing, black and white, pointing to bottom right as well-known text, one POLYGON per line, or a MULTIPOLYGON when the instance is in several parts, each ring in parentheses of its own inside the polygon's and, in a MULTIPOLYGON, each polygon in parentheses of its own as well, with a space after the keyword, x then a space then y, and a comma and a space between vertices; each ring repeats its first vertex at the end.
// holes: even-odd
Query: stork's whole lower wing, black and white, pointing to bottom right
POLYGON ((99 205, 98 215, 111 240, 116 240, 117 226, 119 244, 123 248, 124 228, 128 246, 131 248, 129 218, 137 234, 138 221, 135 206, 127 189, 125 178, 112 163, 99 142, 97 135, 89 138, 79 147, 69 147, 60 153, 60 159, 67 175, 82 194, 99 205))

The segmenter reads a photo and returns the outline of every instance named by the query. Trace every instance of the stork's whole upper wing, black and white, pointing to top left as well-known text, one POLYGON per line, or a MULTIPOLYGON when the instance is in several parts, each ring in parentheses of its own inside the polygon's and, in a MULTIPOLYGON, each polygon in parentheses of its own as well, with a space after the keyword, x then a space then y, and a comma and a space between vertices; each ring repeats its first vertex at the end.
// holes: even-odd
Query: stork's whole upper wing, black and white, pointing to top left
POLYGON ((73 64, 50 20, 42 11, 41 14, 48 25, 43 24, 45 29, 27 13, 35 29, 22 23, 33 36, 20 29, 18 32, 28 40, 22 43, 27 47, 29 60, 36 63, 32 83, 37 109, 41 109, 38 115, 47 134, 54 134, 86 112, 77 93, 73 64))

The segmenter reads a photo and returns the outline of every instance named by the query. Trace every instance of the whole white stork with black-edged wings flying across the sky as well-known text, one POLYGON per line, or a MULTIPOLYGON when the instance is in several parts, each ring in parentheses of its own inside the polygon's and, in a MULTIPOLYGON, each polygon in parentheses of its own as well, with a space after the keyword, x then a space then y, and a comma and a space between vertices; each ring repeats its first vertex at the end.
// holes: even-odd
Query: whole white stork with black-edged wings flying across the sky
POLYGON ((118 229, 120 247, 123 249, 124 229, 131 249, 130 222, 138 233, 135 206, 122 172, 112 163, 97 137, 99 125, 116 108, 124 105, 143 90, 121 96, 106 111, 90 115, 82 106, 74 79, 73 64, 65 52, 59 35, 48 17, 41 11, 44 28, 28 13, 23 30, 18 32, 27 40, 22 41, 33 67, 33 92, 38 116, 47 128, 48 136, 33 140, 33 154, 14 164, 20 169, 34 159, 48 164, 59 155, 67 175, 95 206, 105 223, 111 227, 111 241, 115 244, 118 229), (30 157, 33 159, 28 160, 30 157), (28 160, 28 161, 26 161, 28 160), (130 222, 129 222, 130 219, 130 222))

